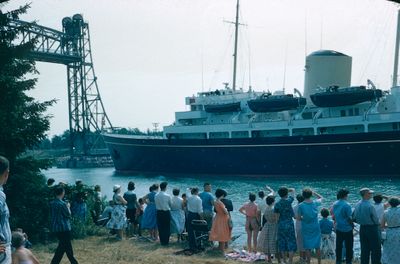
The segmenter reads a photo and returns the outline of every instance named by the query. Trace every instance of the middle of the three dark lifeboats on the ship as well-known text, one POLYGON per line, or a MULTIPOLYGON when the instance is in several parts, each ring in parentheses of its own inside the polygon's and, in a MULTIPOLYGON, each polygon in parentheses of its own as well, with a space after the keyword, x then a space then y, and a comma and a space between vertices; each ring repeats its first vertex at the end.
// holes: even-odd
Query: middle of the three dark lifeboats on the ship
POLYGON ((251 111, 255 113, 280 112, 303 107, 307 103, 304 97, 294 97, 293 94, 271 95, 262 94, 260 97, 247 101, 251 111))

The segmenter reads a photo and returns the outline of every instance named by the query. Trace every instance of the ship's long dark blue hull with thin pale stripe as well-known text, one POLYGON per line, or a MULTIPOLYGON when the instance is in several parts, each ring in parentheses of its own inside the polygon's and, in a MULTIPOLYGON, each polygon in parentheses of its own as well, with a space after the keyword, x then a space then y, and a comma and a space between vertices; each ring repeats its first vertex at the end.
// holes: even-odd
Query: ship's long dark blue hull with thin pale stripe
POLYGON ((167 140, 105 134, 117 171, 400 177, 400 132, 167 140))

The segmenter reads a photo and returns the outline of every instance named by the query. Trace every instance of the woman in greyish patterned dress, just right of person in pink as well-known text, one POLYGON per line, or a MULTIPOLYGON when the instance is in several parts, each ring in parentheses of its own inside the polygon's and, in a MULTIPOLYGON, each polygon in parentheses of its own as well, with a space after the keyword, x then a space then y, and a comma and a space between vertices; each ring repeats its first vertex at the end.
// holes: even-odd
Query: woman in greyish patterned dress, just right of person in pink
MULTIPOLYGON (((258 250, 265 253, 266 262, 272 263, 272 255, 278 253, 278 245, 276 243, 278 237, 278 219, 279 215, 274 213, 275 197, 268 195, 266 199, 267 207, 264 211, 265 224, 258 236, 258 250)), ((278 258, 278 262, 279 258, 278 258)))

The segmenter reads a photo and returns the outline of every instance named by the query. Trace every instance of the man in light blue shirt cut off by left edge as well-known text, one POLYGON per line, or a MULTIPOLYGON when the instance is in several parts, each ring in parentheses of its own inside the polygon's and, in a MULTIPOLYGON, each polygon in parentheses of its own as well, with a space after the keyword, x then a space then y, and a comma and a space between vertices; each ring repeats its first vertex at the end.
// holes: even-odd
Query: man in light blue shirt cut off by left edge
MULTIPOLYGON (((9 223, 10 211, 6 203, 6 195, 3 186, 7 183, 10 173, 10 163, 0 156, 0 254, 5 253, 4 259, 0 264, 11 264, 11 229, 9 223)), ((0 255, 0 257, 2 257, 0 255)))

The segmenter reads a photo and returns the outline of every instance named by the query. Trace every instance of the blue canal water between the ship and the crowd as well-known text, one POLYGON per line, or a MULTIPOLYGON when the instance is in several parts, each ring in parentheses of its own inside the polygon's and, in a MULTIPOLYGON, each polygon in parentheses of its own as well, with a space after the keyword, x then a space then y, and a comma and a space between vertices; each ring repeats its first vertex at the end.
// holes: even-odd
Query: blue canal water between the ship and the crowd
MULTIPOLYGON (((234 242, 234 245, 241 247, 245 245, 246 232, 244 230, 245 217, 238 212, 242 204, 248 201, 248 193, 257 193, 265 190, 264 186, 269 185, 274 190, 278 190, 280 186, 287 186, 300 192, 304 187, 311 187, 323 197, 322 207, 330 207, 336 200, 336 191, 340 188, 347 188, 350 191, 349 202, 354 205, 359 199, 358 191, 360 188, 369 187, 376 192, 385 195, 400 196, 400 179, 376 178, 358 179, 357 177, 348 177, 346 179, 326 179, 324 176, 313 177, 311 179, 303 178, 246 178, 246 177, 221 177, 218 175, 209 176, 166 176, 166 175, 146 175, 146 174, 119 174, 114 168, 94 168, 94 169, 57 169, 51 168, 44 171, 48 178, 54 178, 56 182, 65 182, 73 184, 77 179, 81 179, 86 185, 99 184, 103 195, 108 198, 112 197, 112 187, 114 184, 122 185, 122 192, 126 191, 129 181, 135 182, 138 197, 142 197, 148 193, 149 186, 153 183, 168 181, 168 191, 172 193, 172 188, 179 188, 185 191, 189 187, 199 187, 202 190, 204 182, 212 184, 213 191, 217 188, 225 189, 228 192, 228 198, 232 200, 234 205, 233 218, 233 235, 240 237, 234 242)), ((256 202, 260 202, 257 199, 256 202)))

